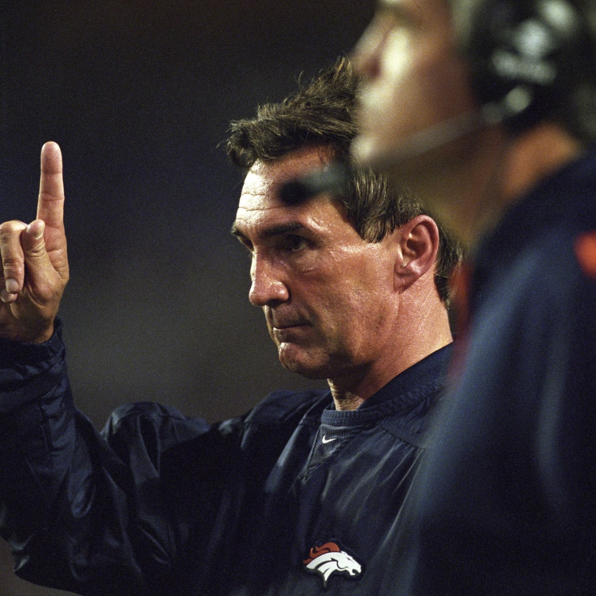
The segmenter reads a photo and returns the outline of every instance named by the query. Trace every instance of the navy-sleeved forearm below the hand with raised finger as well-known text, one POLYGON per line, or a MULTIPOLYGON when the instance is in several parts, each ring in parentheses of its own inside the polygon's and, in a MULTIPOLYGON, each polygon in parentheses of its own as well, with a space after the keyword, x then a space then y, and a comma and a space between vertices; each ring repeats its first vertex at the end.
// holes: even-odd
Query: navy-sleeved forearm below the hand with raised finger
POLYGON ((114 480, 119 462, 73 405, 60 331, 45 344, 1 342, 0 532, 29 581, 93 593, 111 567, 101 585, 125 581, 130 591, 114 593, 134 594, 126 480, 114 480))

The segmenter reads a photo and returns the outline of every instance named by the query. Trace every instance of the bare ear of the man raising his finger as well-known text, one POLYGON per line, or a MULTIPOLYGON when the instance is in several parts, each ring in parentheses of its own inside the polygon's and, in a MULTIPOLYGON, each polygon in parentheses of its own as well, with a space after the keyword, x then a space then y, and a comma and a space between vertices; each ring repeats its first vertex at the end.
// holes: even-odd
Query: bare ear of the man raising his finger
POLYGON ((417 215, 396 230, 395 287, 405 288, 432 271, 439 252, 439 228, 428 215, 417 215))

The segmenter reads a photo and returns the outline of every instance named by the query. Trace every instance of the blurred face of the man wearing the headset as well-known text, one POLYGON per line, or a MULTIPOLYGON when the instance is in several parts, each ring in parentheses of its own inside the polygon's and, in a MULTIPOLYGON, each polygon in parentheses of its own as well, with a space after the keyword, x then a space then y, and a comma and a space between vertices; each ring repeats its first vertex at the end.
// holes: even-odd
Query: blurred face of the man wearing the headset
POLYGON ((474 108, 446 0, 380 0, 353 60, 365 76, 353 153, 367 165, 395 167, 412 135, 474 108))

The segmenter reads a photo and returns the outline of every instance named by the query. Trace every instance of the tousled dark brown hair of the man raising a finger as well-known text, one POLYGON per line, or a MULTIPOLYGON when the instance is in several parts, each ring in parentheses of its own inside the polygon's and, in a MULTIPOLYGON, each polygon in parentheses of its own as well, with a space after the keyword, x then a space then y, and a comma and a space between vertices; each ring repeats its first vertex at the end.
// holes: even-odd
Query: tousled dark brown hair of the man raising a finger
MULTIPOLYGON (((232 122, 226 151, 245 171, 257 161, 280 159, 303 147, 325 147, 335 162, 349 166, 345 190, 337 196, 359 235, 378 242, 417 215, 428 212, 411 194, 389 184, 384 175, 356 166, 350 143, 356 136, 355 111, 360 77, 346 58, 324 69, 307 86, 281 103, 257 108, 252 119, 232 122)), ((429 214, 430 215, 430 214, 429 214)), ((461 260, 461 247, 439 222, 435 284, 449 302, 449 277, 461 260)))

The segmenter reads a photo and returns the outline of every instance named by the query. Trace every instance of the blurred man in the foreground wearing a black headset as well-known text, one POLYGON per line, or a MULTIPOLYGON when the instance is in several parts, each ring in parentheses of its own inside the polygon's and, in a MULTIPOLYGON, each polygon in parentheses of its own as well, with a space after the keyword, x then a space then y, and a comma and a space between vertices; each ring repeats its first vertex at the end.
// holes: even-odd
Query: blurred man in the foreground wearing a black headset
POLYGON ((473 245, 396 594, 594 594, 596 4, 382 0, 353 153, 473 245))

